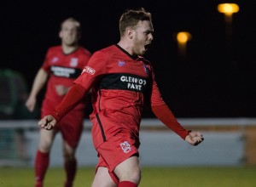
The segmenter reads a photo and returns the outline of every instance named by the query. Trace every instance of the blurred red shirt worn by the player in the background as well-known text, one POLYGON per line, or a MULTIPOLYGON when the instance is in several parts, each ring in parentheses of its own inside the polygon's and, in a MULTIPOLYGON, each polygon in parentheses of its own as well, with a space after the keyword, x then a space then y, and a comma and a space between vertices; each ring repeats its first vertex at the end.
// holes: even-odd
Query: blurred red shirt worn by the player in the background
MULTIPOLYGON (((43 64, 44 71, 49 72, 43 102, 44 111, 52 111, 56 105, 61 103, 65 95, 59 96, 55 91, 55 86, 71 87, 73 81, 79 77, 84 66, 87 65, 90 56, 90 52, 82 47, 71 54, 64 54, 61 46, 49 48, 43 64)), ((84 109, 84 103, 80 103, 76 109, 84 109)))

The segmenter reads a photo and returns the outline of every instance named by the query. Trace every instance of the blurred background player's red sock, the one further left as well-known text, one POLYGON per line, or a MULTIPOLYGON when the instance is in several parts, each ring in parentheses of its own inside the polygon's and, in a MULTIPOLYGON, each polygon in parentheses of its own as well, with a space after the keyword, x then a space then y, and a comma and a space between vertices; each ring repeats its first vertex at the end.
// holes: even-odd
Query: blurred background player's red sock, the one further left
POLYGON ((43 186, 44 175, 49 166, 49 153, 42 153, 40 150, 37 151, 35 159, 35 177, 36 177, 36 187, 43 186))

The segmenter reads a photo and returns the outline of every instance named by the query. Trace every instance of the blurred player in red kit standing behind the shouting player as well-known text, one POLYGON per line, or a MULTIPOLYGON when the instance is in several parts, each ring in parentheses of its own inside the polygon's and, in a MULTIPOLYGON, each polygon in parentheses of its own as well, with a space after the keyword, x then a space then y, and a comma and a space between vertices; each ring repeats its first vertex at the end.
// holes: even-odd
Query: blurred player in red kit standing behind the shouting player
MULTIPOLYGON (((84 66, 87 65, 91 53, 79 45, 81 26, 78 20, 68 18, 61 23, 59 32, 61 45, 49 48, 44 64, 32 84, 32 90, 26 100, 26 107, 33 111, 37 103, 37 96, 47 82, 46 93, 41 108, 41 116, 49 114, 61 103, 68 89, 79 77, 84 66)), ((36 187, 44 185, 44 176, 49 167, 49 153, 55 134, 60 132, 63 139, 64 167, 67 174, 65 187, 73 186, 77 171, 75 151, 83 131, 85 99, 67 116, 63 117, 54 130, 40 129, 38 151, 35 158, 36 187)))

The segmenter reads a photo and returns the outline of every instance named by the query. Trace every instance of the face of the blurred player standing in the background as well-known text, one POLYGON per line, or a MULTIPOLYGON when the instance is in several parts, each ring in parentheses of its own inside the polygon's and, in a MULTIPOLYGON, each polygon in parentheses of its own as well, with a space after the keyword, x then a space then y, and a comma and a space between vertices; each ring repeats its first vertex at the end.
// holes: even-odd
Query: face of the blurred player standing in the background
POLYGON ((61 26, 61 42, 67 46, 77 45, 79 41, 79 32, 77 25, 73 21, 66 21, 61 26))

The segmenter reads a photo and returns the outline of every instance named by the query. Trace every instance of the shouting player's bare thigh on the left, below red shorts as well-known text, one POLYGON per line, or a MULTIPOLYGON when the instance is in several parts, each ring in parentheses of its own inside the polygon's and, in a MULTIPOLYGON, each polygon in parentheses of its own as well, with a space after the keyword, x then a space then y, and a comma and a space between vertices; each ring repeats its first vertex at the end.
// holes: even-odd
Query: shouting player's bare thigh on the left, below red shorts
POLYGON ((98 167, 91 187, 116 187, 107 167, 98 167))

